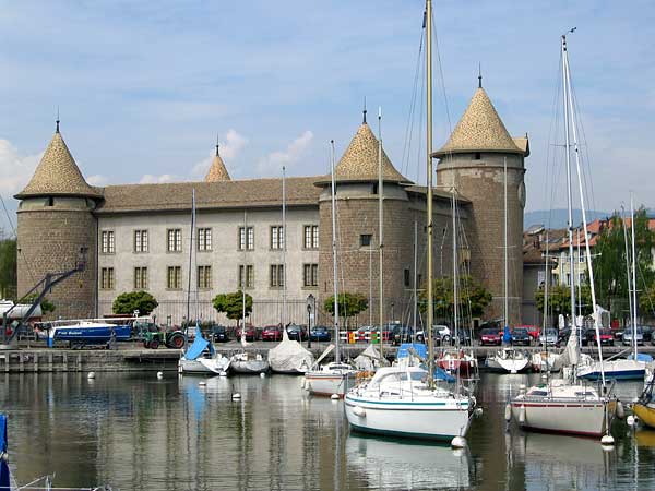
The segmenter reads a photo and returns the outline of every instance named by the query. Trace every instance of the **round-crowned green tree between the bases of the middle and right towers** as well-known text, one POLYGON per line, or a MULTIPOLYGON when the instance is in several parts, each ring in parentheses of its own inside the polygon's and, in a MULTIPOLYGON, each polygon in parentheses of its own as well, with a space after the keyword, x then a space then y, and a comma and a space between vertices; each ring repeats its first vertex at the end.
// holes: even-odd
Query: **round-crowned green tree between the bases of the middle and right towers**
MULTIPOLYGON (((464 275, 458 279, 458 303, 460 312, 471 312, 471 315, 478 316, 485 311, 485 308, 491 303, 492 296, 481 283, 476 282, 469 275, 464 275)), ((432 282, 433 308, 436 314, 441 316, 452 316, 454 306, 453 279, 450 276, 437 278, 432 282)), ((427 311, 426 289, 419 294, 421 311, 427 311)))

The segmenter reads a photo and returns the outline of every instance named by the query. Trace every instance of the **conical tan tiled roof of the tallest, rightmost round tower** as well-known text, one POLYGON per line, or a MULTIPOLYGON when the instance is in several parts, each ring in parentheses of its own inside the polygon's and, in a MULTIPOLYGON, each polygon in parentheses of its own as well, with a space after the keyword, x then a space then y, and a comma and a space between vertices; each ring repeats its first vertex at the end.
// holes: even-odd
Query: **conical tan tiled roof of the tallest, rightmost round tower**
POLYGON ((469 152, 524 154, 508 133, 483 87, 478 87, 450 139, 434 156, 469 152))

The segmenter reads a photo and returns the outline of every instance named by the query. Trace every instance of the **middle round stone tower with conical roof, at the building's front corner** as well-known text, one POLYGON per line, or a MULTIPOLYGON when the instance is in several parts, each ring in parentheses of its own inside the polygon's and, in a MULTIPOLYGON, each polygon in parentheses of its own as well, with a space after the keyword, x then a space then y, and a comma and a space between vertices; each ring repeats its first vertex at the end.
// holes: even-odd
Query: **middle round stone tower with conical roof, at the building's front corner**
MULTIPOLYGON (((337 274, 341 291, 369 298, 369 311, 360 323, 379 325, 379 143, 364 122, 335 168, 337 274), (372 290, 372 295, 371 295, 372 290), (369 316, 369 313, 371 314, 369 316)), ((400 319, 406 300, 404 270, 412 266, 413 232, 409 200, 404 184, 410 182, 382 151, 383 179, 383 322, 400 319)), ((319 199, 319 304, 333 295, 332 203, 330 176, 317 185, 319 199)))

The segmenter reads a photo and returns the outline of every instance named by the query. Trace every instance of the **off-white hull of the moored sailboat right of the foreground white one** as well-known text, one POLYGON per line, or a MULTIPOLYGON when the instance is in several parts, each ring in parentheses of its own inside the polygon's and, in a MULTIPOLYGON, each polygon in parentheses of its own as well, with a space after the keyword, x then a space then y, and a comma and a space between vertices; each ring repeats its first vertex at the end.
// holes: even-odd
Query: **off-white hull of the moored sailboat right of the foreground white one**
POLYGON ((514 399, 511 406, 512 418, 525 430, 584 436, 600 436, 606 432, 603 402, 514 399), (521 411, 525 411, 523 418, 521 411))

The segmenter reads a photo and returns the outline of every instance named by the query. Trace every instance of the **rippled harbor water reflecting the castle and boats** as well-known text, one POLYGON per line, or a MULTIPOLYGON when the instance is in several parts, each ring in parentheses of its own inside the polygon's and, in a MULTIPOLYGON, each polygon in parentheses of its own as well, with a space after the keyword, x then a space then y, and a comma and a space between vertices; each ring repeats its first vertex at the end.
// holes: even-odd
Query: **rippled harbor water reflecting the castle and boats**
MULTIPOLYGON (((55 474, 60 488, 114 490, 655 489, 655 431, 616 423, 612 451, 508 431, 508 397, 538 376, 483 374, 484 414, 464 451, 353 433, 343 402, 283 375, 2 374, 0 411, 19 483, 55 474)), ((631 400, 641 385, 616 391, 631 400)))

